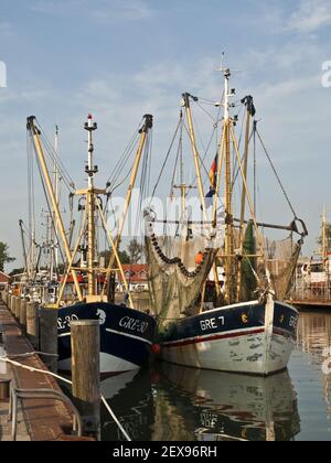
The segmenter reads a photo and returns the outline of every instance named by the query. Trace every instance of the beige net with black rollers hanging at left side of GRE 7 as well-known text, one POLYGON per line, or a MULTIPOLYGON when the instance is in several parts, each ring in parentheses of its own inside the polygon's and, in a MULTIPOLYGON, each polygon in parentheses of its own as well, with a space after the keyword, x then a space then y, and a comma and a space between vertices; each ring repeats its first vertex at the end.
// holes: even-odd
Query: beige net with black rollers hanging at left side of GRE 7
POLYGON ((150 297, 160 322, 199 313, 197 301, 217 254, 214 229, 190 225, 179 236, 157 236, 151 220, 148 227, 150 297))

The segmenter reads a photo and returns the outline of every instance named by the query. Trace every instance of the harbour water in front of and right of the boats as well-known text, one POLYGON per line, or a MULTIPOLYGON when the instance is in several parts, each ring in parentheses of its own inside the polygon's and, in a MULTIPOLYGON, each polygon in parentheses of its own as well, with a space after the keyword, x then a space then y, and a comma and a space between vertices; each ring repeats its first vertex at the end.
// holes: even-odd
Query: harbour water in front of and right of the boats
MULTIPOLYGON (((289 369, 270 378, 169 364, 103 381, 134 441, 331 441, 331 314, 301 313, 289 369)), ((124 440, 108 414, 103 440, 124 440)))

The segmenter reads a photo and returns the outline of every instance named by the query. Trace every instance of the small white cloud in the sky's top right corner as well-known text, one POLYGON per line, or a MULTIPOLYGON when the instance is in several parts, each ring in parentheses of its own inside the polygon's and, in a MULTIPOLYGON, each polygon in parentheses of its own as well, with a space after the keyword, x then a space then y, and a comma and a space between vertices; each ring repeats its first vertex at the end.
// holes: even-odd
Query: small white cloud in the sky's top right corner
POLYGON ((329 0, 301 0, 298 11, 292 13, 287 30, 311 33, 331 25, 331 3, 329 0))

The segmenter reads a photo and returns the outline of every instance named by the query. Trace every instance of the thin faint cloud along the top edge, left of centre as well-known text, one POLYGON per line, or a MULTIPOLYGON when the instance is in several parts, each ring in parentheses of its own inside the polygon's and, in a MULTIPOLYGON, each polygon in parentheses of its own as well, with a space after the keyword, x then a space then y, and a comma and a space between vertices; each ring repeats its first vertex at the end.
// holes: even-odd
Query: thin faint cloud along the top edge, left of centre
POLYGON ((141 21, 154 12, 143 0, 38 0, 30 6, 33 11, 50 15, 88 17, 98 22, 141 21))

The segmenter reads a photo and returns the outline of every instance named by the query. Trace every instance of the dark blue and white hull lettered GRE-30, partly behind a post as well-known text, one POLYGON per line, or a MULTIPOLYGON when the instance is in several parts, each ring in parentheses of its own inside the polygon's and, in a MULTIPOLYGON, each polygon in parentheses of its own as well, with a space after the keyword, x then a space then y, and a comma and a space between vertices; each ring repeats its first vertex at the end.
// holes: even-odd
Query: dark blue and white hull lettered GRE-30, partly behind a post
POLYGON ((100 323, 100 373, 119 374, 145 366, 154 342, 156 321, 137 310, 108 303, 67 306, 58 311, 58 368, 71 370, 71 322, 100 323))

